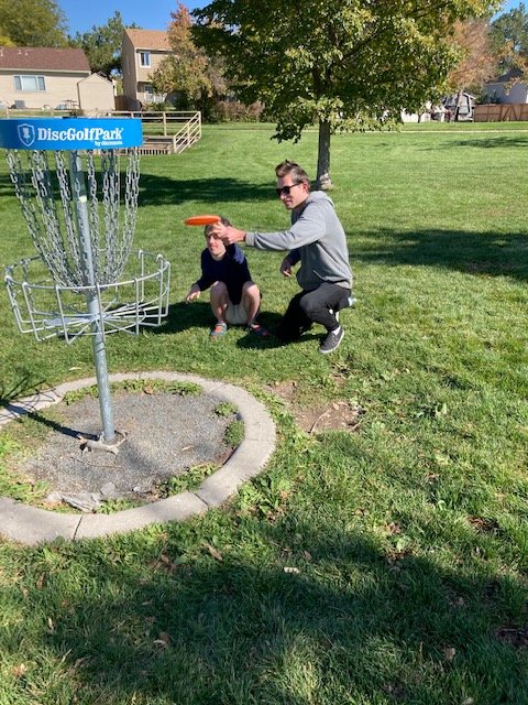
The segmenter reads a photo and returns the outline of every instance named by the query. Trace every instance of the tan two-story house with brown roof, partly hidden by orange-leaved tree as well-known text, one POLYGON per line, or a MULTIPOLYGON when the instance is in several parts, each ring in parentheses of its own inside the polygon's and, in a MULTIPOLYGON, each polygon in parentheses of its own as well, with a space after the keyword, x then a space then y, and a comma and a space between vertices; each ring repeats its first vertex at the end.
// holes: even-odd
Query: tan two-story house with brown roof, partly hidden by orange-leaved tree
POLYGON ((123 32, 122 70, 123 94, 128 110, 140 110, 154 102, 164 102, 165 96, 154 93, 152 74, 161 62, 173 53, 167 32, 134 30, 123 32))

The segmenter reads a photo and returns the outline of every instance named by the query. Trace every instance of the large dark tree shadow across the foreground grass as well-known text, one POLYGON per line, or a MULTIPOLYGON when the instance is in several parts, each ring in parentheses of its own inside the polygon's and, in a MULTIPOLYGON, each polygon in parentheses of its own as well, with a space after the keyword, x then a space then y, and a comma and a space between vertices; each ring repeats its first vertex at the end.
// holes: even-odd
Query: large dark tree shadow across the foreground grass
MULTIPOLYGON (((526 702, 522 652, 498 638, 510 581, 295 519, 245 519, 262 564, 208 544, 186 555, 193 529, 175 525, 161 555, 146 541, 128 557, 119 542, 67 550, 97 589, 73 597, 52 568, 58 614, 42 648, 75 673, 79 702, 526 702)), ((24 597, 41 603, 42 587, 24 597)))

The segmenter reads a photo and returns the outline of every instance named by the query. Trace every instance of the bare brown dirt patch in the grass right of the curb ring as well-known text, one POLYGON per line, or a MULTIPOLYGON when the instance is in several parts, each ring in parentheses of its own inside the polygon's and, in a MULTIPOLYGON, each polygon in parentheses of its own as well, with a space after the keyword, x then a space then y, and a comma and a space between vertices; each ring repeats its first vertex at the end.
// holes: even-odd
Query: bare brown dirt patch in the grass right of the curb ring
POLYGON ((354 432, 365 413, 362 406, 346 399, 318 404, 306 403, 295 381, 279 382, 268 389, 286 403, 297 424, 307 433, 354 432))

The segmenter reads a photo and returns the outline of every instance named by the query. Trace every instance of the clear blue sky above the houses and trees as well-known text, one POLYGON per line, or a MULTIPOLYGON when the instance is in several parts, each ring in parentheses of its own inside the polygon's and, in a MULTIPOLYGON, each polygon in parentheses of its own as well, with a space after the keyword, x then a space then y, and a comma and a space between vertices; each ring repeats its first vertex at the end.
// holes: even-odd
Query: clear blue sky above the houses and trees
MULTIPOLYGON (((504 2, 504 10, 518 7, 519 1, 504 2)), ((285 2, 287 6, 287 0, 285 2)), ((144 30, 166 30, 170 12, 177 8, 176 0, 57 0, 57 4, 66 15, 68 33, 73 35, 76 32, 88 32, 94 25, 106 24, 116 10, 121 12, 124 24, 135 22, 144 30)), ((184 4, 194 10, 208 4, 208 0, 190 0, 184 4)))

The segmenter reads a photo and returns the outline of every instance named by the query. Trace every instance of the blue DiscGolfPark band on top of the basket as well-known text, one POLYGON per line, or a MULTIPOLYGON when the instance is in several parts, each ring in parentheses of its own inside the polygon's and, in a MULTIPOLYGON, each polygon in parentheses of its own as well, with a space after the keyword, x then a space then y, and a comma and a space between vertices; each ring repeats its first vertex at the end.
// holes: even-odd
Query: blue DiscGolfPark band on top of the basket
POLYGON ((138 118, 0 120, 0 147, 10 150, 114 150, 141 144, 138 118))

